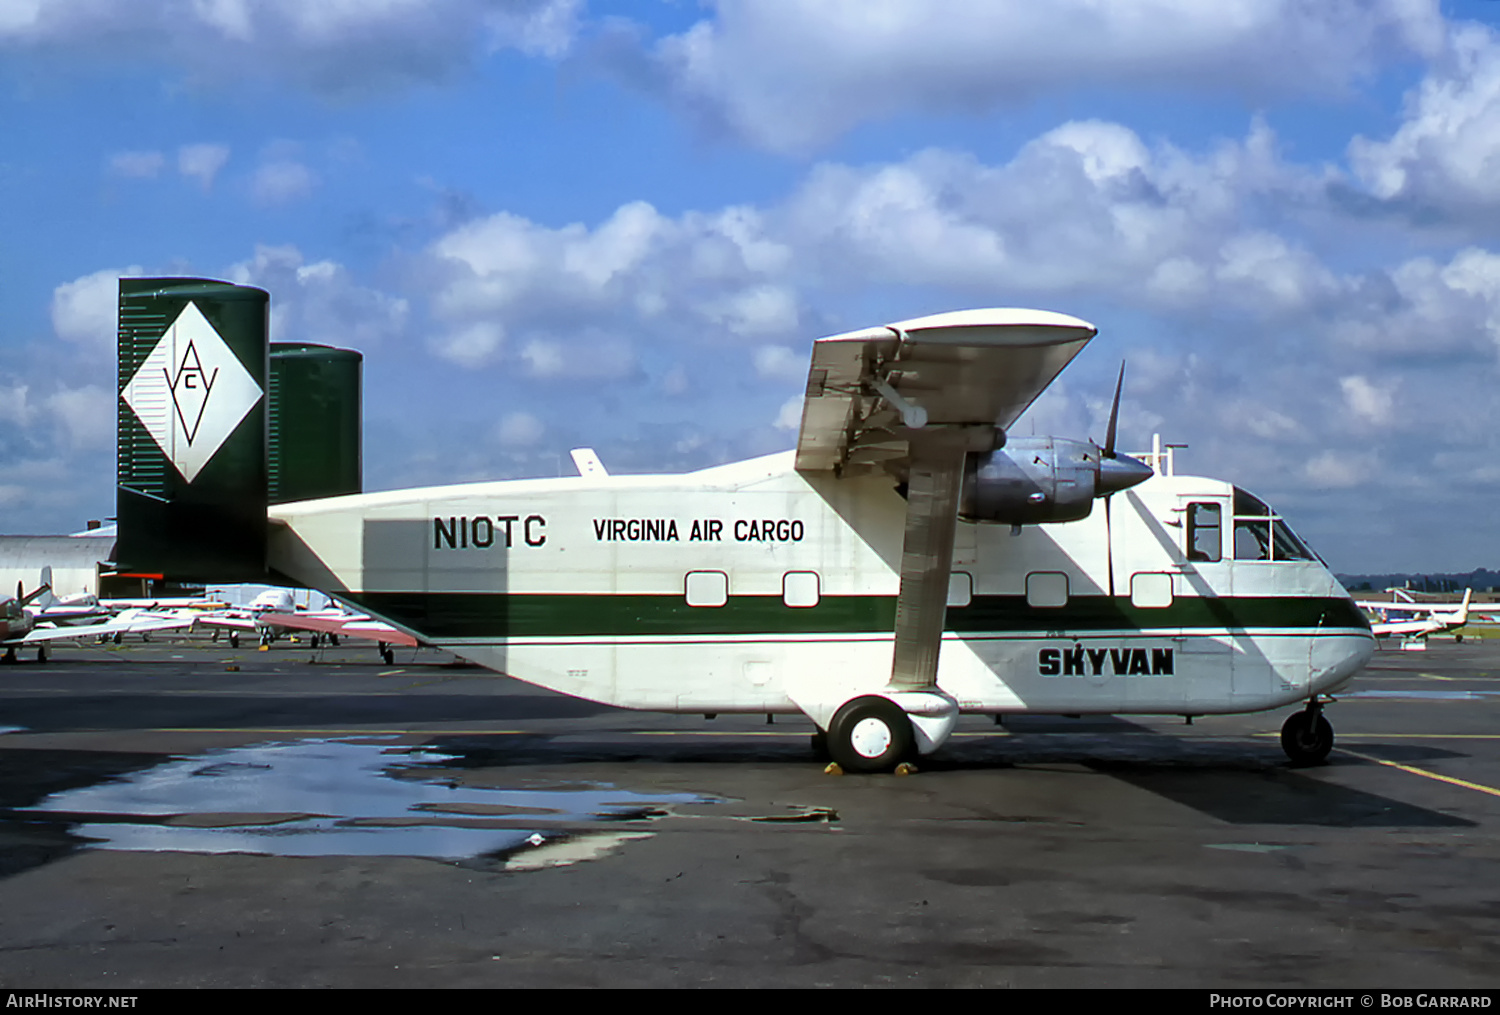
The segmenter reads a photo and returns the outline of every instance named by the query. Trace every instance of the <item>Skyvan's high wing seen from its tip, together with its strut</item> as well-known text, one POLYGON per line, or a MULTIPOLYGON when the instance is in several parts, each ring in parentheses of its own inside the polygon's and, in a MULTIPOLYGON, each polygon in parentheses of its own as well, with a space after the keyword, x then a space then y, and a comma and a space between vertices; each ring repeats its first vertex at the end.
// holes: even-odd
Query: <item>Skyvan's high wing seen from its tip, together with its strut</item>
MULTIPOLYGON (((894 691, 938 684, 964 456, 999 447, 1095 331, 1050 310, 987 309, 813 343, 796 468, 838 477, 885 469, 906 484, 894 691)), ((957 714, 951 702, 933 708, 957 714)))

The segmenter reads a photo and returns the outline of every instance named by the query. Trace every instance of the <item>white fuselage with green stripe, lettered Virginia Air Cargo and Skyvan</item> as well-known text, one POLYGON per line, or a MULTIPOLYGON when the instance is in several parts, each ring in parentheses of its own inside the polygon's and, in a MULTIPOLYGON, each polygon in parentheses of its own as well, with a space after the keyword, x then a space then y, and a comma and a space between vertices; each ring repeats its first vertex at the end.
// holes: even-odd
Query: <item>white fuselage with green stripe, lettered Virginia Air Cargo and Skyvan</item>
MULTIPOLYGON (((940 690, 964 712, 1203 715, 1344 684, 1364 615, 1311 555, 1246 553, 1234 511, 1228 483, 1156 475, 1080 522, 960 523, 940 690)), ((270 565, 567 694, 796 712, 888 681, 904 513, 885 477, 777 454, 279 505, 270 565)))

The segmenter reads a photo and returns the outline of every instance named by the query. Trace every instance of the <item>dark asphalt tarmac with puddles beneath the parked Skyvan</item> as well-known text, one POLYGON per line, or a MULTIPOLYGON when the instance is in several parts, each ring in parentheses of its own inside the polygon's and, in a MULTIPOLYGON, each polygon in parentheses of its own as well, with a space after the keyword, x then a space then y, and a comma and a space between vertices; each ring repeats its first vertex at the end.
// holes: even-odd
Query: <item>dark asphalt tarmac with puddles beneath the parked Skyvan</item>
POLYGON ((1383 651, 1292 768, 1250 717, 812 724, 434 651, 0 667, 0 987, 1500 987, 1500 643, 1383 651))

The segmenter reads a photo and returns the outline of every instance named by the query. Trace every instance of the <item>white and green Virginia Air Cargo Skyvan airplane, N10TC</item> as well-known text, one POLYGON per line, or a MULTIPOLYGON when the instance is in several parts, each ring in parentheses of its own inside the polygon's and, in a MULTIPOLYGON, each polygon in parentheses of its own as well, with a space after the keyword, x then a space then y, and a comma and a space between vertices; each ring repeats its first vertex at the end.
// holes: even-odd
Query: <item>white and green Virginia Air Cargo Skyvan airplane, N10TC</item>
POLYGON ((608 705, 804 714, 846 771, 909 765, 960 714, 1299 702, 1282 747, 1316 763, 1328 693, 1374 651, 1264 502, 1114 450, 1118 387, 1102 447, 1008 433, 1094 337, 1072 316, 819 339, 782 454, 686 475, 585 454, 578 477, 268 501, 300 406, 267 388, 267 306, 120 280, 122 567, 306 585, 608 705))

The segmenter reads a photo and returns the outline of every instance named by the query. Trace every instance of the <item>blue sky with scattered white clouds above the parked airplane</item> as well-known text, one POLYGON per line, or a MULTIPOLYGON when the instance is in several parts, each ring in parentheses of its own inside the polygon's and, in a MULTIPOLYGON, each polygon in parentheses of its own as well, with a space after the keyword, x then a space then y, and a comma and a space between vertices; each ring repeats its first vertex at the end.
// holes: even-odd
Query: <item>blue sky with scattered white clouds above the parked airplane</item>
POLYGON ((1500 567, 1500 3, 0 0, 0 529, 112 513, 114 292, 366 354, 368 489, 789 447, 812 339, 1100 337, 1342 571, 1500 567))

